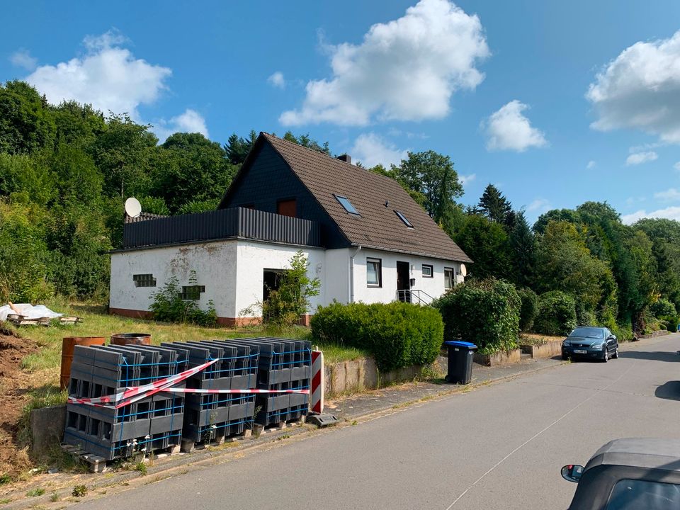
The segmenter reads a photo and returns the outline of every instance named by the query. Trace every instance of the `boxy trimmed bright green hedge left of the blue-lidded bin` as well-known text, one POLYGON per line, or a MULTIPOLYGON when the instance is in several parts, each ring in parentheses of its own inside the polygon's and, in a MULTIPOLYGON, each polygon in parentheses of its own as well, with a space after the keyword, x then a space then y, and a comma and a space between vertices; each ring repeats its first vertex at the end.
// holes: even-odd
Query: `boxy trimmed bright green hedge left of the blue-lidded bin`
POLYGON ((319 307, 311 326, 316 339, 369 351, 383 371, 432 363, 444 331, 437 310, 404 302, 333 302, 319 307))

